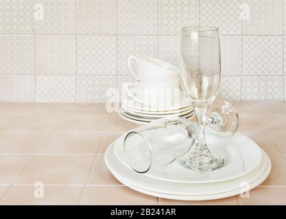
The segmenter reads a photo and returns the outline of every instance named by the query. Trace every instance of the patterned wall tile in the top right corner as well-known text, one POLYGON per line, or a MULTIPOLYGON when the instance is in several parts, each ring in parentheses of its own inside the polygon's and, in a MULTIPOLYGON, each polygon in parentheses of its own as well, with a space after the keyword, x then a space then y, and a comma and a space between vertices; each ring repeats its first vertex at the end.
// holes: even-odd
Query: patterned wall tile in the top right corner
POLYGON ((249 9, 243 34, 283 34, 283 0, 243 0, 243 4, 249 9))

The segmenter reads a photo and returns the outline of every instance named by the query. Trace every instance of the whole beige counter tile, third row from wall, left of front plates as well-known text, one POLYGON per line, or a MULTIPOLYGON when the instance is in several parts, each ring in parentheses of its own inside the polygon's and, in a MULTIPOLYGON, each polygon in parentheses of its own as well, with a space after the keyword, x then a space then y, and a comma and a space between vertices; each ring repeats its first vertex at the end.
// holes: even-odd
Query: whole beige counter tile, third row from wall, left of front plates
POLYGON ((103 133, 54 132, 38 153, 78 155, 96 154, 103 137, 103 133))

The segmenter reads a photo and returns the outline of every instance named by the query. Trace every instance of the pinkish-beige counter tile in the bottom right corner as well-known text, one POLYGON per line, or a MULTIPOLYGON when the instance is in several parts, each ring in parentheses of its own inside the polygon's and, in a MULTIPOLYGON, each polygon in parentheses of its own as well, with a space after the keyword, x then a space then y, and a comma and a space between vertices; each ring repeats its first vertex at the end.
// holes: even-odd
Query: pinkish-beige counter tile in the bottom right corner
POLYGON ((286 205, 286 188, 259 187, 250 190, 249 198, 240 198, 241 205, 286 205))

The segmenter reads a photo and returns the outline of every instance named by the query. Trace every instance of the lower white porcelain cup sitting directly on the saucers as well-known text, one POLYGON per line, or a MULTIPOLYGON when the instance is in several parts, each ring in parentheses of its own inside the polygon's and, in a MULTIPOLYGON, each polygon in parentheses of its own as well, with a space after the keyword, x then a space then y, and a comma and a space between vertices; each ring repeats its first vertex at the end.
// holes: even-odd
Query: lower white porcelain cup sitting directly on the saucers
POLYGON ((127 83, 126 94, 147 107, 163 109, 180 101, 180 79, 158 83, 127 83))

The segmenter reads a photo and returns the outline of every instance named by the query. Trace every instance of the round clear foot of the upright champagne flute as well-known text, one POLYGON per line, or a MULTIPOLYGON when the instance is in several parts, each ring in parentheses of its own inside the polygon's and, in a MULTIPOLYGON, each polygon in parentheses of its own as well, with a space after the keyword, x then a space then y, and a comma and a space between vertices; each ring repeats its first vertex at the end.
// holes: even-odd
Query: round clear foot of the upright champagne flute
POLYGON ((224 159, 219 159, 213 155, 189 155, 189 157, 180 157, 177 159, 185 168, 196 171, 217 170, 224 166, 224 159))

